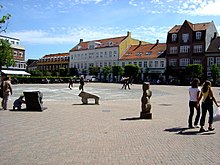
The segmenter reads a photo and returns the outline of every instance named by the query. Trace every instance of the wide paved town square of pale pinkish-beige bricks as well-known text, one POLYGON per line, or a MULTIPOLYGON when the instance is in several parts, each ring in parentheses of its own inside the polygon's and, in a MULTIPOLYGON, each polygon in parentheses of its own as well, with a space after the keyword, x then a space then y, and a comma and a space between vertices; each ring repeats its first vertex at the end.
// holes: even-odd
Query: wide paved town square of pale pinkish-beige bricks
POLYGON ((87 83, 85 91, 99 95, 100 105, 82 105, 78 84, 72 90, 68 84, 13 85, 9 109, 32 90, 43 93, 47 109, 0 110, 0 165, 220 164, 220 122, 213 132, 187 129, 188 87, 151 85, 152 120, 139 118, 142 85, 120 88, 87 83))

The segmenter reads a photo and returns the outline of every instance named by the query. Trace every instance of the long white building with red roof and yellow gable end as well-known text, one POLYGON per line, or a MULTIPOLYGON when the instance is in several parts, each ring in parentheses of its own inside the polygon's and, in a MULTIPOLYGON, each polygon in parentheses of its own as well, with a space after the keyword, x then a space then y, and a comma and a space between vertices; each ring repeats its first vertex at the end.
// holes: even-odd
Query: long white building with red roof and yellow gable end
POLYGON ((89 74, 89 67, 116 66, 122 54, 132 44, 138 44, 139 40, 131 38, 131 33, 126 36, 107 38, 83 42, 70 50, 70 68, 77 68, 79 74, 84 71, 89 74))

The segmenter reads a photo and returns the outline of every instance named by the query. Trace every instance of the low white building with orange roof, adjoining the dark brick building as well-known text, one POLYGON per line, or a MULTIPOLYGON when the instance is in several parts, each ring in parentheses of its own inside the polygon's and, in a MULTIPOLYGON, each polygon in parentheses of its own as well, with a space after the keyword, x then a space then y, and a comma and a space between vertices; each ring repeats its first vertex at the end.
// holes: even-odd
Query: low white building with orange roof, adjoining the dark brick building
POLYGON ((156 83, 164 81, 166 69, 166 43, 132 45, 120 58, 120 65, 137 65, 141 68, 141 79, 156 83))

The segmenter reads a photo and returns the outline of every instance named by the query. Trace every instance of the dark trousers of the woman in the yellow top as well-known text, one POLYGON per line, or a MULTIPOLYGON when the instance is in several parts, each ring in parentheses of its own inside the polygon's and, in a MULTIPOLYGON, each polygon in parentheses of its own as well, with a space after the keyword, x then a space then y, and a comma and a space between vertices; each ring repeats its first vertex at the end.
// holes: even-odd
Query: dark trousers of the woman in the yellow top
POLYGON ((204 126, 205 125, 205 118, 206 118, 206 113, 207 111, 209 112, 209 120, 208 123, 212 124, 213 123, 213 103, 202 103, 202 117, 200 119, 200 125, 204 126))

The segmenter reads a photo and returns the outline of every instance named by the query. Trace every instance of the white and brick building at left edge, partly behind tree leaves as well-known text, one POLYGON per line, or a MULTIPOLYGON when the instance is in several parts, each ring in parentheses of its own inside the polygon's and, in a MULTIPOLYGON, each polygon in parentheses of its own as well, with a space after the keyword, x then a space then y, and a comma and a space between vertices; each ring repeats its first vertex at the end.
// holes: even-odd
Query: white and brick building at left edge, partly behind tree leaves
MULTIPOLYGON (((14 54, 15 66, 10 66, 9 69, 13 70, 26 70, 26 63, 25 63, 25 48, 20 44, 20 39, 2 36, 0 35, 0 39, 7 40, 14 54)), ((2 67, 3 69, 6 67, 2 67)))

